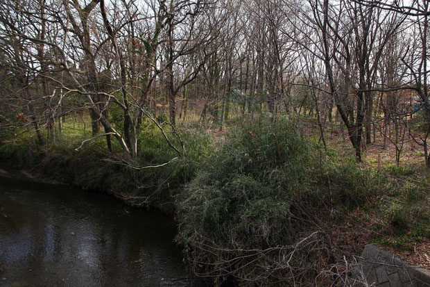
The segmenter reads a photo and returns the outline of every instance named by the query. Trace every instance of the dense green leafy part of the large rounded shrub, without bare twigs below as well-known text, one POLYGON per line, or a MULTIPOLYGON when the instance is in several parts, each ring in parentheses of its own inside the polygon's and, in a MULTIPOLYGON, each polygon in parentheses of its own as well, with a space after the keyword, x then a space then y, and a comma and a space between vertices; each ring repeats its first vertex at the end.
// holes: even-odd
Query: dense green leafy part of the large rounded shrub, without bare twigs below
POLYGON ((183 238, 197 231, 222 240, 230 228, 232 238, 224 239, 239 243, 249 233, 267 243, 288 236, 292 197, 311 192, 317 180, 313 156, 295 123, 246 122, 177 197, 183 238))

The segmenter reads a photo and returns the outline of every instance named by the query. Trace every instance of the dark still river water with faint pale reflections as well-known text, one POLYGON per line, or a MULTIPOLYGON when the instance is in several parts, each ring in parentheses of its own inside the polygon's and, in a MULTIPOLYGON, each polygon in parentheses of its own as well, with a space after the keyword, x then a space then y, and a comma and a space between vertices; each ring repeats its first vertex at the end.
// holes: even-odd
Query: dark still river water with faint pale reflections
POLYGON ((189 286, 174 235, 107 195, 0 177, 0 286, 189 286))

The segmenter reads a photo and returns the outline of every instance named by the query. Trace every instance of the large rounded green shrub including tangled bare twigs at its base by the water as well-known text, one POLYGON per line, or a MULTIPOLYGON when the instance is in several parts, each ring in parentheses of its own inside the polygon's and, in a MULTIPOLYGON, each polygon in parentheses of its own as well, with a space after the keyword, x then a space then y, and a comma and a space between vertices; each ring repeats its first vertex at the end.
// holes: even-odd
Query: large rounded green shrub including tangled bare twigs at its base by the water
POLYGON ((219 280, 285 282, 292 270, 313 278, 304 265, 325 260, 312 251, 325 239, 310 235, 311 213, 352 208, 377 189, 375 172, 327 158, 282 118, 244 122, 203 166, 175 197, 178 240, 193 270, 219 280))

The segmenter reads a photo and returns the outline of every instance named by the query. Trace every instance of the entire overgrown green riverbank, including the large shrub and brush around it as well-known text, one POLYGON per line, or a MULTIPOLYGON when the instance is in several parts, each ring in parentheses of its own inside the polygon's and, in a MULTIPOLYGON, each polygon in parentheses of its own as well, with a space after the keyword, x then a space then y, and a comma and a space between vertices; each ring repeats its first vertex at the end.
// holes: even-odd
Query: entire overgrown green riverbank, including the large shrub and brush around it
POLYGON ((285 118, 245 120, 221 139, 190 129, 180 134, 186 158, 176 158, 150 124, 135 160, 118 147, 107 154, 103 138, 76 151, 88 135, 73 133, 42 147, 17 136, 3 141, 0 154, 60 181, 175 214, 189 268, 219 284, 326 286, 350 271, 345 262, 353 263, 365 243, 399 251, 428 243, 424 167, 357 164, 285 118))

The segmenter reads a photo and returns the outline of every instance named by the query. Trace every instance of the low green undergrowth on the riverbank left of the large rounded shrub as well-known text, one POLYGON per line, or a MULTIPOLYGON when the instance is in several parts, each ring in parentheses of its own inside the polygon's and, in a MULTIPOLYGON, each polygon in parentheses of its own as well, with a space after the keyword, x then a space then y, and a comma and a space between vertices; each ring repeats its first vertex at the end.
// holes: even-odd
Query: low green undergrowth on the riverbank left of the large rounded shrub
MULTIPOLYGON (((173 134, 167 136, 173 145, 180 145, 173 134)), ((107 151, 104 137, 84 142, 92 137, 91 131, 85 131, 82 124, 66 122, 62 136, 42 146, 26 131, 4 136, 0 159, 13 167, 32 169, 85 190, 107 192, 128 204, 173 215, 173 194, 194 177, 198 165, 213 150, 208 134, 184 131, 181 136, 187 142, 187 158, 178 158, 157 127, 146 123, 139 134, 139 157, 132 159, 114 140, 112 153, 107 151)))

